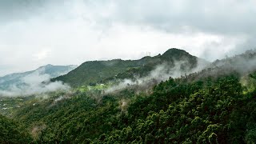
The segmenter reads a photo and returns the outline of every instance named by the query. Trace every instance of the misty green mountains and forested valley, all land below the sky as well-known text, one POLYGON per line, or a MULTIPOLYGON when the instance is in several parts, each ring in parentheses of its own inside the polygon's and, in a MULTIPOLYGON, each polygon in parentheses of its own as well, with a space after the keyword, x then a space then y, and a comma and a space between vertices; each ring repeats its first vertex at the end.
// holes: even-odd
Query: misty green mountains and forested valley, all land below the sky
POLYGON ((256 51, 185 50, 0 77, 0 143, 254 143, 256 51))

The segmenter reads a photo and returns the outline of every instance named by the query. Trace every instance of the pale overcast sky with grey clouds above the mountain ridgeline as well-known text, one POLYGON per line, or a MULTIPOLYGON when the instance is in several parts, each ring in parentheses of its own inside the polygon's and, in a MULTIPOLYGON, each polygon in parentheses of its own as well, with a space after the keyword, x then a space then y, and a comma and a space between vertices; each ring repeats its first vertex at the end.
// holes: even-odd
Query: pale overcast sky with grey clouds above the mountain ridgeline
POLYGON ((0 0, 0 76, 172 47, 213 61, 255 48, 255 15, 255 0, 0 0))

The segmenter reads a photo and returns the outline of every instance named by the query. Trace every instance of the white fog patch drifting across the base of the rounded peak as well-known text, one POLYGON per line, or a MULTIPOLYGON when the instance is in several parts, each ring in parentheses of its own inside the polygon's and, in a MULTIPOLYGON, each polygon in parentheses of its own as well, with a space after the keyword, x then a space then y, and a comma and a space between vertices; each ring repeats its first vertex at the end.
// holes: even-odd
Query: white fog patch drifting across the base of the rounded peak
POLYGON ((207 62, 203 59, 198 59, 197 66, 190 68, 188 61, 174 61, 174 64, 162 63, 155 66, 154 70, 150 71, 150 74, 146 77, 138 77, 134 75, 133 79, 119 80, 117 85, 111 86, 107 90, 107 93, 113 93, 118 90, 123 90, 129 86, 139 86, 141 89, 147 89, 150 86, 157 85, 159 82, 166 81, 169 78, 179 78, 182 75, 191 74, 203 70, 208 66, 207 62))

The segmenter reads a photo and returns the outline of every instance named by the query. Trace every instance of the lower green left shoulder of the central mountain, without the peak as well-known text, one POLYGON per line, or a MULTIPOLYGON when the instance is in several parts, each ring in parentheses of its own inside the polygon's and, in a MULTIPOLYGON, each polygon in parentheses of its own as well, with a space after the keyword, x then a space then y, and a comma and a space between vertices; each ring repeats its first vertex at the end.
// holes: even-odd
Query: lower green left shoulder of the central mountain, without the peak
POLYGON ((53 78, 52 81, 67 82, 71 86, 94 86, 105 78, 114 77, 122 73, 127 68, 141 66, 137 61, 123 61, 121 59, 111 61, 94 61, 85 62, 77 69, 72 70, 69 74, 53 78))

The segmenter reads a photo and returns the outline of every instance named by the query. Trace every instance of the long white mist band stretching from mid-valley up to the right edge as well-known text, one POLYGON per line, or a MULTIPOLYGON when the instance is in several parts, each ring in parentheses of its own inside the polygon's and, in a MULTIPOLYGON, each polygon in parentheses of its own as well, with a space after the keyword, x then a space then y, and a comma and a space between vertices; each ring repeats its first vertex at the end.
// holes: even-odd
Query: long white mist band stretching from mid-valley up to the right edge
POLYGON ((188 78, 206 78, 218 77, 226 74, 246 75, 256 70, 256 50, 246 50, 243 54, 226 57, 222 60, 216 60, 212 63, 206 63, 198 58, 198 64, 193 69, 185 67, 186 61, 174 61, 174 67, 170 67, 167 63, 155 66, 146 77, 138 77, 134 75, 133 79, 119 80, 118 85, 111 86, 106 93, 113 93, 118 90, 126 89, 129 86, 139 86, 142 90, 147 90, 150 86, 154 86, 159 82, 164 82, 169 78, 180 78, 188 76, 188 78), (183 68, 183 70, 182 70, 183 68))

